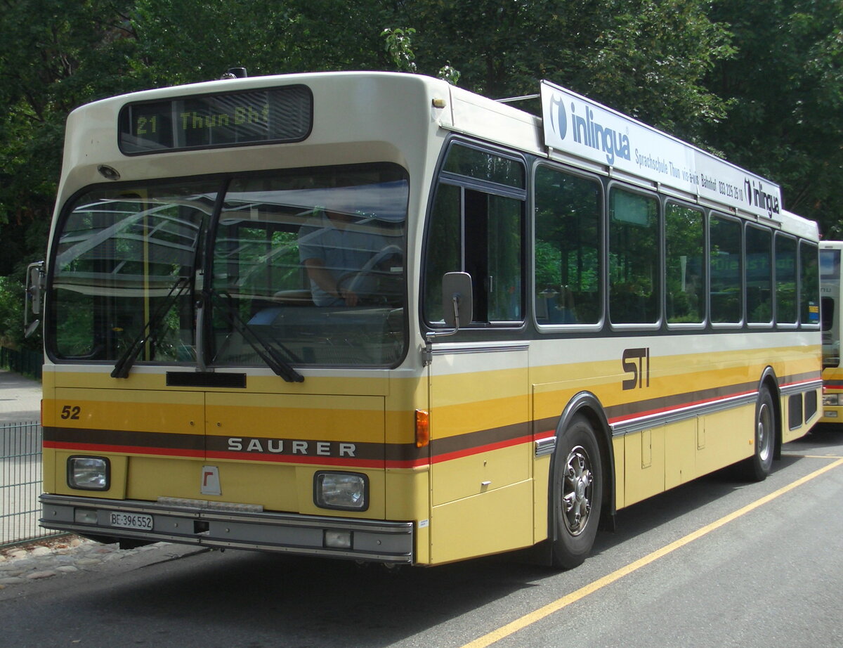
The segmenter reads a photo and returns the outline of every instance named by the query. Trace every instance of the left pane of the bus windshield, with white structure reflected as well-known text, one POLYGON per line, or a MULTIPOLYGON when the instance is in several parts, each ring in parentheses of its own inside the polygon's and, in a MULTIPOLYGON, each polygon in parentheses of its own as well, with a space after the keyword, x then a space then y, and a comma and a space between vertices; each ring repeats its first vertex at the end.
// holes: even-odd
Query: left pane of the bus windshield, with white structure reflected
POLYGON ((190 288, 215 189, 109 188, 77 201, 59 233, 52 278, 51 346, 59 358, 115 361, 143 340, 134 349, 139 360, 195 359, 190 288))

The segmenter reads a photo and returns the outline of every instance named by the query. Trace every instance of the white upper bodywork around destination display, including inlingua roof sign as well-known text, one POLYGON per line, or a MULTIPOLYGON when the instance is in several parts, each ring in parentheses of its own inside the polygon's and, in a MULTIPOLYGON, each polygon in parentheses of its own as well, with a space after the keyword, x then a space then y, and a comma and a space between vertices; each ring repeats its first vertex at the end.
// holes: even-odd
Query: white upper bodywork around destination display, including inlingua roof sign
MULTIPOLYGON (((243 148, 220 149, 210 156, 197 150, 134 157, 123 154, 117 143, 117 116, 130 103, 291 84, 313 89, 314 132, 301 143, 288 146, 302 150, 310 150, 314 144, 333 147, 338 162, 349 161, 342 159, 341 150, 348 158, 354 151, 378 157, 388 149, 395 152, 393 160, 400 161, 396 147, 405 151, 431 147, 434 140, 441 140, 431 136, 444 129, 658 188, 727 213, 771 219, 789 231, 816 238, 815 224, 782 208, 781 189, 775 183, 547 82, 541 85, 543 118, 440 79, 405 73, 288 74, 122 94, 83 105, 68 117, 62 180, 74 175, 70 184, 77 187, 101 181, 98 165, 120 167, 124 179, 151 177, 148 174, 153 172, 183 175, 185 167, 199 174, 231 168, 234 159, 244 161, 243 148), (425 135, 427 141, 422 143, 420 138, 425 135), (367 143, 367 147, 354 146, 354 142, 367 143)), ((256 143, 248 150, 255 165, 259 159, 277 159, 277 154, 271 153, 277 148, 271 143, 256 143)), ((313 155, 301 159, 301 164, 317 164, 318 156, 313 155)))

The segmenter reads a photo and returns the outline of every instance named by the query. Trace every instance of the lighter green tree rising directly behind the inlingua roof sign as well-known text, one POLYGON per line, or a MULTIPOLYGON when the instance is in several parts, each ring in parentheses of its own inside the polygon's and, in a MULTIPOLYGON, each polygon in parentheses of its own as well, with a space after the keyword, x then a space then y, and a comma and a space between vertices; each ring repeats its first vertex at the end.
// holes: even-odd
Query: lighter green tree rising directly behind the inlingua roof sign
POLYGON ((689 0, 421 0, 402 3, 418 70, 443 60, 491 97, 538 92, 546 78, 683 138, 724 114, 702 84, 731 54, 709 3, 689 0), (678 37, 681 35, 681 37, 678 37))

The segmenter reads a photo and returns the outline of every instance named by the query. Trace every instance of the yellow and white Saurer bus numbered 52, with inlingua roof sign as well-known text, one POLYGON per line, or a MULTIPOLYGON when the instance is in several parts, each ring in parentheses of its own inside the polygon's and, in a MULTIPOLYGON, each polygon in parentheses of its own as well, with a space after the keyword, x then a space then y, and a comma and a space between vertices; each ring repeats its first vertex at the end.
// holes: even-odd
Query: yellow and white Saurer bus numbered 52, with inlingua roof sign
POLYGON ((555 84, 151 89, 67 120, 41 524, 436 565, 583 562, 618 510, 819 417, 816 224, 555 84))

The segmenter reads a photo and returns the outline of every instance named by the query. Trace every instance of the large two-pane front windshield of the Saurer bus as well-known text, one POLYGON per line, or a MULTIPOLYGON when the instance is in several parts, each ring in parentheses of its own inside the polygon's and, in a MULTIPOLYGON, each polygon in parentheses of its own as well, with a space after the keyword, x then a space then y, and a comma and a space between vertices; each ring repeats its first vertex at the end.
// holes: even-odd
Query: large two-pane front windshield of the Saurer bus
POLYGON ((397 365, 407 200, 395 165, 98 186, 56 233, 48 348, 116 377, 136 362, 287 379, 397 365))

